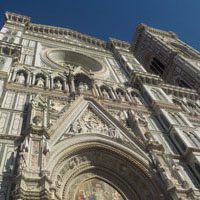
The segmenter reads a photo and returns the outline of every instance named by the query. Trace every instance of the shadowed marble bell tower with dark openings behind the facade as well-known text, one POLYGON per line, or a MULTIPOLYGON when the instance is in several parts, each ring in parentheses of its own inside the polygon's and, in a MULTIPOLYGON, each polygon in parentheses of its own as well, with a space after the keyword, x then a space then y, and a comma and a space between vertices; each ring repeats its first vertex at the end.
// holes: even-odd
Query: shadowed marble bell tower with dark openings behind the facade
POLYGON ((166 83, 198 90, 200 53, 175 33, 139 24, 131 48, 148 72, 161 76, 166 83))

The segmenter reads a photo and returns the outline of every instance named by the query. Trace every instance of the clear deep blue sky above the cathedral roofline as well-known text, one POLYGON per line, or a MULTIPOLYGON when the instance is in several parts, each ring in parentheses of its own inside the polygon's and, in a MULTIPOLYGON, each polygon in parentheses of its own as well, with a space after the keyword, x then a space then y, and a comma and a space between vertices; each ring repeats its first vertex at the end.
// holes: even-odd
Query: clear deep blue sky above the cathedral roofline
POLYGON ((200 50, 200 0, 0 0, 1 22, 5 11, 103 40, 114 37, 130 42, 135 26, 143 22, 174 31, 200 50))

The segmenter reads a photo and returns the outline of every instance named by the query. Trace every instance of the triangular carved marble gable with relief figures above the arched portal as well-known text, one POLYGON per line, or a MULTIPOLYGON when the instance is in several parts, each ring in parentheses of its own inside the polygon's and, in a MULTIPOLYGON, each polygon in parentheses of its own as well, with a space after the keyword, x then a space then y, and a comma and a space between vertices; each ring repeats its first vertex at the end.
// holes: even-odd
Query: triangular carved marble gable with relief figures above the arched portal
POLYGON ((142 142, 121 125, 93 99, 79 97, 50 128, 50 146, 77 135, 96 134, 123 143, 134 149, 144 148, 142 142))

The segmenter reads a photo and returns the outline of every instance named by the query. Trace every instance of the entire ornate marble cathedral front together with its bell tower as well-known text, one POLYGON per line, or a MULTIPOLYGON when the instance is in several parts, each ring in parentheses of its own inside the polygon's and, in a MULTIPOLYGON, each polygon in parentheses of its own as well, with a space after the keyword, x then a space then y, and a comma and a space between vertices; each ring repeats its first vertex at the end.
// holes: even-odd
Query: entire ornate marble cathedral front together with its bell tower
POLYGON ((200 53, 145 24, 131 43, 0 31, 0 200, 200 199, 200 53))

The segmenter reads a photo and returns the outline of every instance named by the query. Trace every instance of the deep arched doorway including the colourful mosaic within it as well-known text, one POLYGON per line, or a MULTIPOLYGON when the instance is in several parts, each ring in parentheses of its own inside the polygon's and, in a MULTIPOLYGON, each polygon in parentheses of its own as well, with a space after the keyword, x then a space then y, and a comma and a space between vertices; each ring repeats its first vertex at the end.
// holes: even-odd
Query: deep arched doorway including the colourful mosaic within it
MULTIPOLYGON (((77 136, 76 141, 80 141, 79 137, 85 136, 77 136)), ((73 143, 69 140, 67 143, 73 143)), ((49 170, 57 199, 159 199, 160 183, 156 183, 155 174, 140 161, 140 156, 125 152, 122 145, 113 146, 100 140, 103 141, 99 138, 98 142, 73 144, 54 153, 50 161, 55 159, 56 163, 49 170)))

